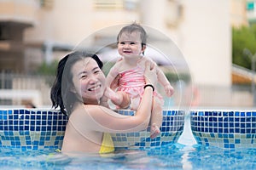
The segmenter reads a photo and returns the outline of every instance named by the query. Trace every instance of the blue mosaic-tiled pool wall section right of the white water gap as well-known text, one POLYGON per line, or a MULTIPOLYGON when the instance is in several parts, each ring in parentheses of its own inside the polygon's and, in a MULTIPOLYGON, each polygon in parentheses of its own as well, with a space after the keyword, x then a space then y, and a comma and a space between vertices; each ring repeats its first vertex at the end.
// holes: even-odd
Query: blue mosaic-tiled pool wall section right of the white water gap
POLYGON ((190 124, 198 144, 256 148, 256 111, 190 111, 190 124))

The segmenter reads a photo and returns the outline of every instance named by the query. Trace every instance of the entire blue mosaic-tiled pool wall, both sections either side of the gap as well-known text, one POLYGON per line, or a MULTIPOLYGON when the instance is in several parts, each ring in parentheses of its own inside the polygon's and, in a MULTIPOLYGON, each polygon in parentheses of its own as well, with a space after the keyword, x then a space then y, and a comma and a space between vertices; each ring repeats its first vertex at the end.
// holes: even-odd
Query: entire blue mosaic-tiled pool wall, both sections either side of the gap
MULTIPOLYGON (((118 111, 133 115, 134 111, 118 111)), ((185 111, 163 111, 161 133, 149 138, 149 127, 137 133, 112 134, 116 149, 150 149, 177 143, 184 129, 185 111)), ((187 121, 187 120, 186 120, 187 121)), ((224 149, 256 148, 256 111, 189 111, 189 130, 197 144, 224 149)), ((61 149, 67 116, 55 110, 0 110, 0 148, 61 149)))

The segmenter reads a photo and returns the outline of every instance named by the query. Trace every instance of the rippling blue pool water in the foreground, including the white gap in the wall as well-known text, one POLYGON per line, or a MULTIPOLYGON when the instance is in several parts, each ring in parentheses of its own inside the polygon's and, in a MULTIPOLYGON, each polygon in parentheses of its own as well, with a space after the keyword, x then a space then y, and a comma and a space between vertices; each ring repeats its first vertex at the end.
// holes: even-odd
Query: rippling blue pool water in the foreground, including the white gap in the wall
POLYGON ((227 150, 196 144, 185 119, 177 144, 109 155, 66 156, 52 151, 0 150, 1 169, 256 169, 256 149, 227 150))

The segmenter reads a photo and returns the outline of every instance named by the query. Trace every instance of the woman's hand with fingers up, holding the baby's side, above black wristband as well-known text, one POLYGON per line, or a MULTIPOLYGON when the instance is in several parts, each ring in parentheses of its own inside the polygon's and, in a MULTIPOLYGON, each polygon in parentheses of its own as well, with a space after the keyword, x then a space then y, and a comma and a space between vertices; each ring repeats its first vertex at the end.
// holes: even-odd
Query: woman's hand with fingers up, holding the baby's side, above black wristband
POLYGON ((151 65, 149 61, 146 61, 145 63, 144 77, 146 84, 155 86, 157 82, 156 67, 155 65, 151 65))

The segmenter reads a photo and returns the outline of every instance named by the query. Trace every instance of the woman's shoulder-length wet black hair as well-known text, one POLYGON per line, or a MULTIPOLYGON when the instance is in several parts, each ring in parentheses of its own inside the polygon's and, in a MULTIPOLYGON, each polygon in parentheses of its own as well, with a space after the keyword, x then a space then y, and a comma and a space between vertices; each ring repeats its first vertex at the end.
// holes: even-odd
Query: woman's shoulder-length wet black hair
POLYGON ((96 54, 88 54, 82 51, 75 51, 67 54, 59 61, 55 82, 50 90, 52 107, 55 109, 60 106, 61 112, 69 116, 73 110, 73 105, 78 101, 78 97, 70 90, 73 87, 73 75, 71 69, 75 63, 85 58, 96 60, 97 65, 102 69, 102 61, 96 54))

